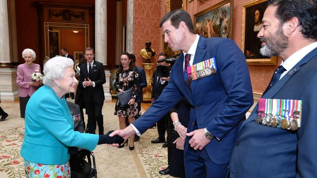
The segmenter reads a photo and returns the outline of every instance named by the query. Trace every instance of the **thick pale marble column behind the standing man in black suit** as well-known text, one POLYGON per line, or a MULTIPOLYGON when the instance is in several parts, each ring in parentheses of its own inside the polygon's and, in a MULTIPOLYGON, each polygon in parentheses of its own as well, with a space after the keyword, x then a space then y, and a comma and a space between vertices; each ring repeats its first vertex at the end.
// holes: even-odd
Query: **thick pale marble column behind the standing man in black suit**
MULTIPOLYGON (((95 56, 96 61, 107 65, 107 1, 95 1, 95 56)), ((111 101, 110 71, 105 70, 106 83, 103 84, 105 101, 111 101), (108 74, 109 73, 109 74, 108 74)))

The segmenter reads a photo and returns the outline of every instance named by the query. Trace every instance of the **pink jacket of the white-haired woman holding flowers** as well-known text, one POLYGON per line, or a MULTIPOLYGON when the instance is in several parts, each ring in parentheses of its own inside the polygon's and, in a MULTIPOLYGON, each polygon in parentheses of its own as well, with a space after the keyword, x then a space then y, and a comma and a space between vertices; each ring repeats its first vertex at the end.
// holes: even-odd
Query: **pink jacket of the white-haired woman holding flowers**
POLYGON ((26 97, 27 95, 32 96, 35 92, 35 87, 30 86, 30 83, 33 82, 31 79, 31 74, 34 72, 41 72, 39 64, 33 64, 32 67, 28 65, 20 64, 17 69, 17 85, 19 86, 19 96, 26 97))

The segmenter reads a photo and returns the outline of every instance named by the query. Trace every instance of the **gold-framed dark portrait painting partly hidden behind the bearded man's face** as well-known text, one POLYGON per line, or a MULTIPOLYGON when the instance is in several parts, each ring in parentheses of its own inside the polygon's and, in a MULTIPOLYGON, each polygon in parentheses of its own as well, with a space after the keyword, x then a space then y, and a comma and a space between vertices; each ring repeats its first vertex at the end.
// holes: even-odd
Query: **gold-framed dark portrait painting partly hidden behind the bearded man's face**
POLYGON ((268 58, 260 54, 261 42, 258 32, 262 28, 262 18, 267 0, 251 0, 242 8, 242 52, 248 64, 275 65, 276 56, 268 58))

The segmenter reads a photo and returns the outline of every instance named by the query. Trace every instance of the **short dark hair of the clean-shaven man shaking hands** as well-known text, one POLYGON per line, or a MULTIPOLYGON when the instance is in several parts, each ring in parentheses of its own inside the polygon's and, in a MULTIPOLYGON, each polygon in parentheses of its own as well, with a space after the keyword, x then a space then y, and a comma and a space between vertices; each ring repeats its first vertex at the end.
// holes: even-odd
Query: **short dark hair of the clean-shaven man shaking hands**
POLYGON ((163 23, 168 21, 168 20, 171 21, 171 24, 176 29, 178 29, 179 23, 181 21, 183 21, 183 22, 185 22, 189 31, 192 34, 195 33, 192 18, 190 17, 190 15, 186 11, 184 11, 182 9, 174 10, 174 11, 167 13, 159 22, 159 27, 162 27, 163 23))

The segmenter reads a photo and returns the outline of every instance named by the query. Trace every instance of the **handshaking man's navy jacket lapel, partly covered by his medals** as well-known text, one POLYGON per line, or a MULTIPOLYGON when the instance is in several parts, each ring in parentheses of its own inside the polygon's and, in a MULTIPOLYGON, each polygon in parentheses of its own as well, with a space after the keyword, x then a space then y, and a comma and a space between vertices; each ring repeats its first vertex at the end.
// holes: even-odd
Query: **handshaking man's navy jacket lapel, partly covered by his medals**
MULTIPOLYGON (((206 40, 205 38, 199 37, 199 41, 198 41, 198 45, 197 45, 197 49, 196 49, 193 65, 197 64, 199 62, 202 62, 204 60, 204 56, 205 56, 205 54, 207 52, 205 40, 206 40)), ((195 97, 197 81, 198 80, 191 81, 191 90, 192 90, 192 97, 193 98, 195 97)))

